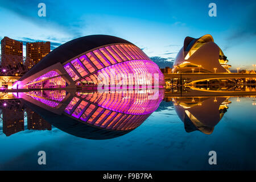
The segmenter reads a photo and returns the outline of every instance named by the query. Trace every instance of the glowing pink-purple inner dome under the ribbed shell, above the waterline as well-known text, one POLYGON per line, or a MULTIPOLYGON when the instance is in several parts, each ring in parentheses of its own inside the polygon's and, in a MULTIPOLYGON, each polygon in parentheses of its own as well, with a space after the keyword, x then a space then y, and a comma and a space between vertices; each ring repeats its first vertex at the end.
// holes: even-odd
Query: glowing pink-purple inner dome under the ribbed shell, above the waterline
POLYGON ((89 77, 85 77, 78 84, 86 85, 90 82, 92 85, 98 85, 102 81, 102 77, 109 81, 114 79, 113 84, 115 86, 119 85, 122 89, 128 88, 129 86, 133 86, 133 88, 148 88, 150 86, 163 88, 165 85, 163 73, 160 71, 158 65, 149 60, 125 61, 111 65, 89 77), (122 82, 118 76, 122 77, 122 82))

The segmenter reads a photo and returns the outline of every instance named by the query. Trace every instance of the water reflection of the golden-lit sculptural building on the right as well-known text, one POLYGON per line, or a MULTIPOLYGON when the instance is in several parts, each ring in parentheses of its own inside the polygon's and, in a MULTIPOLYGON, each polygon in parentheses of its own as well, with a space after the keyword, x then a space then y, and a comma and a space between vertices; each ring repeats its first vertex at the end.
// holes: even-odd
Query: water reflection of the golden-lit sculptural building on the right
POLYGON ((199 130, 204 134, 212 134, 231 103, 226 97, 180 97, 172 101, 185 131, 199 130))

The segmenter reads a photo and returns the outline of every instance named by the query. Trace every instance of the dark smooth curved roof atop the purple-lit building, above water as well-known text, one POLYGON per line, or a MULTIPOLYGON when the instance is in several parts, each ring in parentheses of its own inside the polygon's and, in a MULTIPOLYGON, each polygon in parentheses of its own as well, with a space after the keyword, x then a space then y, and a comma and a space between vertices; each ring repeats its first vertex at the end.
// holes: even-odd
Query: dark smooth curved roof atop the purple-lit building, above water
POLYGON ((65 63, 65 61, 72 59, 75 56, 80 55, 90 49, 105 46, 114 43, 127 43, 125 39, 118 38, 110 35, 89 35, 81 38, 73 39, 61 46, 53 49, 46 57, 44 57, 38 64, 36 64, 30 71, 23 75, 19 80, 22 81, 25 78, 34 75, 35 73, 45 69, 56 63, 65 63))

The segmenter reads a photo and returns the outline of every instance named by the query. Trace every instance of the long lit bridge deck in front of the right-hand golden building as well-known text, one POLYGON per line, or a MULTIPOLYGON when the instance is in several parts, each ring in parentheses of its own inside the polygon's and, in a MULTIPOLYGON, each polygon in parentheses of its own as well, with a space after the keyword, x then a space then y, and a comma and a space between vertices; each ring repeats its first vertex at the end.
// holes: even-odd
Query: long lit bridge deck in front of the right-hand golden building
MULTIPOLYGON (((256 73, 164 73, 165 80, 180 80, 182 84, 227 78, 256 78, 256 73)), ((182 85, 180 84, 180 85, 182 85)))

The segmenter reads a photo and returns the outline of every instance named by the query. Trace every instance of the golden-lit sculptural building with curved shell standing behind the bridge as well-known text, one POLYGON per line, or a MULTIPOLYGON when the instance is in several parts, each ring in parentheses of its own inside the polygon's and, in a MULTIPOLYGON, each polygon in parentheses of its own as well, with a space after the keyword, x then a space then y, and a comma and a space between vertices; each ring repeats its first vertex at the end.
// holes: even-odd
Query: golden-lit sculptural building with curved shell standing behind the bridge
POLYGON ((174 62, 174 72, 178 73, 225 73, 231 65, 211 35, 195 39, 186 37, 174 62))

